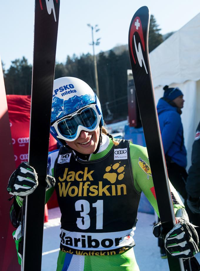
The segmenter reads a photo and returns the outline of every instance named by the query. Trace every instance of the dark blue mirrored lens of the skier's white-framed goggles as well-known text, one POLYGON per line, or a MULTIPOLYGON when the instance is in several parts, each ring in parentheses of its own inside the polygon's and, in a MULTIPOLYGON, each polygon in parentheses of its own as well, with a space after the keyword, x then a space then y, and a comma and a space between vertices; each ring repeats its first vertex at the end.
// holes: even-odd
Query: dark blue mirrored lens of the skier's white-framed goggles
POLYGON ((73 139, 76 137, 79 125, 87 129, 94 129, 97 124, 96 112, 92 108, 86 108, 81 113, 71 117, 71 119, 64 119, 59 122, 58 130, 62 136, 73 139))

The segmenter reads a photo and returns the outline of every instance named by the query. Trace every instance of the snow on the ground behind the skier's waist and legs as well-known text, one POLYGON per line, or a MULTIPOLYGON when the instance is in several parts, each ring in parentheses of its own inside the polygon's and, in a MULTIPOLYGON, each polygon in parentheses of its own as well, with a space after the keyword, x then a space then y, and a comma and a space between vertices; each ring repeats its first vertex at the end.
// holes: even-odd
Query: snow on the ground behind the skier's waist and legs
MULTIPOLYGON (((152 233, 155 221, 154 215, 139 212, 137 217, 134 252, 140 271, 168 271, 167 259, 161 259, 157 238, 152 233)), ((42 271, 56 271, 59 234, 60 210, 57 207, 49 210, 49 222, 44 224, 42 271)), ((197 254, 196 258, 200 262, 200 253, 197 254)))

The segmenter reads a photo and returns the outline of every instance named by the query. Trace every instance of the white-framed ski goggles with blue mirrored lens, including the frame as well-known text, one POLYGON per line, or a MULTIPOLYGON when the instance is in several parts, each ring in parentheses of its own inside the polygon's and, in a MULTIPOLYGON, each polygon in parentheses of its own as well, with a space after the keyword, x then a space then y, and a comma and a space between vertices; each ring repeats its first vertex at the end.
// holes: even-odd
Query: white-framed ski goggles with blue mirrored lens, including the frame
POLYGON ((66 141, 74 141, 79 137, 82 130, 92 132, 99 126, 99 115, 95 104, 81 108, 71 116, 65 116, 55 121, 51 126, 57 132, 57 137, 66 141))

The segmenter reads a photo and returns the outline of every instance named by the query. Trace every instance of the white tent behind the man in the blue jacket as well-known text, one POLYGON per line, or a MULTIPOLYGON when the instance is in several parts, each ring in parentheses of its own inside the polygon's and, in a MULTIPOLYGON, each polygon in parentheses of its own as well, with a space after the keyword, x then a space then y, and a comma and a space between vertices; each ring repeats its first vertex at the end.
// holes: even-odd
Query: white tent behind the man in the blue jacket
POLYGON ((149 58, 156 103, 163 97, 165 85, 179 87, 184 94, 181 119, 188 169, 200 121, 200 13, 154 49, 149 58))

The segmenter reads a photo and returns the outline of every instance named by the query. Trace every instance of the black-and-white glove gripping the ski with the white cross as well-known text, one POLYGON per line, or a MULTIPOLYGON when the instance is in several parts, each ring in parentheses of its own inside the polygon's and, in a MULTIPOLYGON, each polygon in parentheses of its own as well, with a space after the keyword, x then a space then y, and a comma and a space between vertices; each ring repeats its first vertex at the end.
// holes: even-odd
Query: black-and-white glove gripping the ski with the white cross
MULTIPOLYGON (((199 237, 195 226, 182 218, 176 218, 178 223, 166 235, 164 243, 167 251, 176 258, 189 259, 198 251, 199 237)), ((161 223, 153 227, 153 234, 160 237, 162 234, 161 223)))

